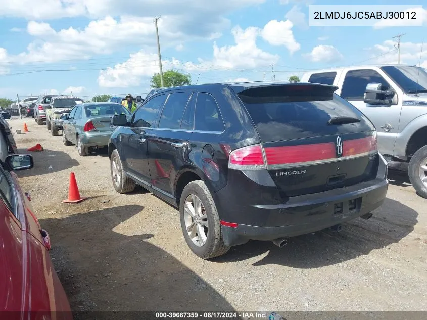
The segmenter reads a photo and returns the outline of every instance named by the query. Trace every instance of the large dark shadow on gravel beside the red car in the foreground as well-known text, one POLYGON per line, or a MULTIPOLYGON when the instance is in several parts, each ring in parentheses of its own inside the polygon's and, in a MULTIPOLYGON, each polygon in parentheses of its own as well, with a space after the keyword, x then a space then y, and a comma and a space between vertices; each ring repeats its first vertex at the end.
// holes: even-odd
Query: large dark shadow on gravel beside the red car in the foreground
MULTIPOLYGON (((140 212, 143 213, 140 213, 140 212)), ((76 319, 87 311, 232 310, 231 305, 184 264, 147 240, 128 235, 126 224, 144 207, 125 205, 65 218, 48 218, 51 256, 76 319)), ((110 311, 110 312, 108 312, 110 311)), ((117 318, 145 318, 141 313, 117 318)))

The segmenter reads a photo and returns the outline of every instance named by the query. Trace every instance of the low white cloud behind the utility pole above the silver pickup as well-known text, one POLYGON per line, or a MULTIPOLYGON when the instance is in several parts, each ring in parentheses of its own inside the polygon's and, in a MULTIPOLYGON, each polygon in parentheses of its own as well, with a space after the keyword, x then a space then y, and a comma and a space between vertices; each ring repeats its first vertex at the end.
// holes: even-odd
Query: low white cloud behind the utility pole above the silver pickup
MULTIPOLYGON (((398 63, 398 52, 395 48, 396 42, 386 40, 381 44, 375 44, 373 48, 368 50, 371 52, 372 63, 387 64, 398 63)), ((427 58, 427 43, 400 42, 400 63, 418 64, 421 55, 422 58, 427 58)))

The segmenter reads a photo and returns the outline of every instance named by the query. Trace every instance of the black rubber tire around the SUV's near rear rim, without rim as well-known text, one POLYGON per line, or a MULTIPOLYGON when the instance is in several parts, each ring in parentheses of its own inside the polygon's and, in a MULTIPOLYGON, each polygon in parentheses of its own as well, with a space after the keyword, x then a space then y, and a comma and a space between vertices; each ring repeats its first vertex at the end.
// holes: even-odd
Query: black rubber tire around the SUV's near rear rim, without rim
POLYGON ((224 245, 221 225, 219 223, 219 215, 215 206, 215 202, 213 201, 208 187, 206 187, 205 182, 202 180, 190 182, 185 186, 179 202, 179 218, 181 221, 182 233, 184 234, 184 238, 188 247, 202 259, 218 257, 230 250, 229 246, 224 245), (202 246, 197 246, 195 243, 193 243, 188 235, 184 222, 184 203, 185 199, 187 199, 187 197, 191 194, 196 195, 202 201, 207 215, 208 233, 206 242, 202 246))

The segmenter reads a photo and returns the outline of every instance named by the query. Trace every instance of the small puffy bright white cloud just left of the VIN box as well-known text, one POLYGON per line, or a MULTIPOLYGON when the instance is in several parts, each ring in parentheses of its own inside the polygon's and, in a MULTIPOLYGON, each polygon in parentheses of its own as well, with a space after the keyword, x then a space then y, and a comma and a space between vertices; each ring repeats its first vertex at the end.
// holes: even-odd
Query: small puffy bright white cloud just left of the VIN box
POLYGON ((284 45, 292 55, 300 50, 300 44, 294 38, 292 27, 293 23, 290 20, 271 20, 261 30, 261 35, 271 45, 284 45))

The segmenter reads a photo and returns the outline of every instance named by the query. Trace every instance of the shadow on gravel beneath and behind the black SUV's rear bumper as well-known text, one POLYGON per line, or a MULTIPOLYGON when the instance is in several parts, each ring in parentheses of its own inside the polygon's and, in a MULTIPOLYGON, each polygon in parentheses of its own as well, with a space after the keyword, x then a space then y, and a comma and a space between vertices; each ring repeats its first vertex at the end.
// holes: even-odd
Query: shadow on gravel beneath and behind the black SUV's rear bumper
POLYGON ((341 263, 372 250, 397 243, 414 230, 418 213, 398 201, 386 198, 369 220, 355 219, 343 224, 340 232, 330 229, 292 237, 283 248, 267 241, 250 241, 235 246, 213 262, 235 262, 268 252, 253 265, 278 264, 311 269, 341 263))

